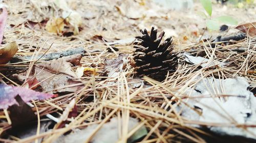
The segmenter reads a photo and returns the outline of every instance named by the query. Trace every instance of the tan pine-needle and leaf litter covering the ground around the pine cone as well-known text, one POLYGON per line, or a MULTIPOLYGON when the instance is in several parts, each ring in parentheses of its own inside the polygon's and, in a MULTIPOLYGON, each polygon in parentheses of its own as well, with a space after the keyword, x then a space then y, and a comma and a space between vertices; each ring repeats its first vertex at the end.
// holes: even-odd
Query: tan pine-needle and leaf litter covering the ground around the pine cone
MULTIPOLYGON (((139 138, 136 141, 141 142, 203 142, 209 139, 225 140, 231 136, 228 138, 230 141, 234 135, 239 135, 236 141, 240 142, 255 139, 251 133, 255 121, 247 117, 255 114, 252 106, 255 102, 253 89, 256 88, 254 36, 247 33, 245 39, 238 41, 214 41, 220 33, 205 30, 205 19, 195 14, 202 9, 198 3, 194 3, 189 10, 181 8, 185 11, 183 13, 170 11, 172 8, 161 7, 149 1, 65 1, 66 8, 56 2, 4 2, 8 6, 9 16, 3 43, 15 41, 18 46, 15 56, 22 61, 1 65, 0 81, 22 86, 26 96, 30 95, 28 88, 42 92, 40 94, 57 93, 59 96, 39 100, 33 97, 32 101, 24 99, 27 103, 24 105, 29 105, 36 115, 33 121, 41 121, 36 122, 37 125, 33 127, 23 123, 26 128, 31 127, 36 131, 30 137, 28 135, 23 138, 10 133, 10 112, 6 109, 0 110, 0 141, 53 142, 59 139, 72 141, 72 137, 81 137, 84 142, 89 142, 100 141, 103 135, 115 136, 110 138, 115 139, 114 141, 130 142, 127 139, 138 130, 139 135, 135 138, 139 138), (72 16, 70 11, 75 12, 75 15, 72 16), (56 26, 53 33, 45 29, 45 24, 53 17, 64 20, 63 31, 57 30, 56 26), (72 24, 69 20, 72 21, 74 17, 81 17, 81 21, 77 18, 74 21, 76 24, 72 24), (26 26, 31 21, 37 26, 26 26), (162 82, 148 77, 138 79, 130 65, 130 55, 134 52, 131 37, 138 36, 139 29, 150 30, 152 25, 159 31, 166 30, 167 37, 173 36, 176 44, 173 52, 190 53, 199 63, 191 65, 181 57, 177 70, 167 73, 162 82), (65 35, 67 33, 69 36, 65 35), (202 37, 206 38, 202 40, 202 37), (82 57, 62 54, 63 51, 76 48, 86 51, 82 57), (44 61, 42 56, 51 56, 51 53, 58 53, 57 58, 50 57, 50 61, 44 61), (200 67, 202 61, 199 56, 208 59, 208 62, 218 62, 213 65, 219 62, 225 65, 200 67), (86 68, 88 73, 84 71, 86 68), (79 76, 75 72, 77 70, 80 71, 79 76), (243 77, 243 81, 237 77, 243 77), (227 80, 229 81, 221 86, 227 80), (202 82, 207 83, 207 86, 202 82), (245 82, 246 84, 242 84, 245 82), (241 95, 233 97, 237 93, 230 93, 228 89, 233 89, 230 87, 236 87, 232 91, 242 92, 241 95), (209 92, 211 88, 214 90, 209 92), (190 96, 191 93, 194 96, 190 96), (217 95, 218 98, 210 96, 209 93, 217 95), (250 98, 241 97, 247 95, 250 98), (196 104, 190 102, 191 99, 200 101, 196 104), (204 102, 212 106, 201 104, 204 102), (230 110, 232 107, 239 109, 230 110), (221 113, 228 116, 228 119, 231 116, 235 120, 222 120, 226 121, 225 125, 219 120, 212 121, 210 117, 215 114, 211 112, 216 110, 216 118, 223 119, 218 114, 221 113), (198 118, 198 113, 204 117, 198 118), (197 119, 187 118, 190 114, 197 115, 194 117, 197 119), (236 120, 237 117, 239 120, 236 120), (214 123, 208 122, 208 119, 214 123), (132 120, 136 120, 135 127, 130 126, 132 120), (38 123, 42 122, 53 122, 53 125, 40 131, 42 126, 38 123), (110 125, 113 132, 106 128, 110 125), (83 134, 83 131, 90 133, 82 136, 80 133, 83 134)), ((235 16, 239 23, 253 22, 251 20, 255 19, 255 7, 248 7, 245 12, 244 9, 232 5, 214 4, 212 10, 215 11, 212 13, 213 17, 223 14, 235 16)), ((237 32, 238 30, 230 26, 221 36, 237 32)), ((16 103, 13 98, 12 101, 16 103)))

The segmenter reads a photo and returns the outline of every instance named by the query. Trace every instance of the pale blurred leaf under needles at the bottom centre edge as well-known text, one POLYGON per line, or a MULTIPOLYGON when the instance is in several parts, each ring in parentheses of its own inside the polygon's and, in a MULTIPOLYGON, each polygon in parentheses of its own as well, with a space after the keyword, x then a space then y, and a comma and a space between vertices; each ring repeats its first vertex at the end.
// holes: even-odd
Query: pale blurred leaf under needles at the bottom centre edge
MULTIPOLYGON (((135 118, 129 118, 129 125, 128 130, 132 131, 133 128, 135 128, 139 122, 135 118)), ((75 132, 68 134, 66 136, 61 136, 57 140, 54 141, 54 143, 60 143, 60 142, 85 142, 91 135, 91 133, 97 128, 97 124, 90 125, 87 128, 83 130, 75 130, 75 132)), ((94 137, 90 140, 92 143, 113 143, 117 142, 119 139, 119 129, 123 128, 123 124, 119 124, 118 119, 112 118, 110 122, 105 123, 102 125, 102 127, 97 131, 97 133, 94 135, 94 137), (119 127, 118 125, 121 125, 119 127)), ((132 143, 136 141, 137 139, 142 138, 147 134, 147 130, 145 126, 142 126, 139 128, 130 138, 128 138, 128 143, 132 143)))

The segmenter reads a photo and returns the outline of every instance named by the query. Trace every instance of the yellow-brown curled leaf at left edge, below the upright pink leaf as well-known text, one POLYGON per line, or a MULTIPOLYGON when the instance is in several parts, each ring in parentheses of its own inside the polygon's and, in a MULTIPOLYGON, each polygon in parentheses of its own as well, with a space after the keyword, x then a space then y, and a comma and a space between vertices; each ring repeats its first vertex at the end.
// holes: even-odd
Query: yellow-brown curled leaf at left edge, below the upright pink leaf
POLYGON ((4 48, 0 49, 0 64, 8 63, 17 51, 18 48, 15 41, 8 43, 4 48))

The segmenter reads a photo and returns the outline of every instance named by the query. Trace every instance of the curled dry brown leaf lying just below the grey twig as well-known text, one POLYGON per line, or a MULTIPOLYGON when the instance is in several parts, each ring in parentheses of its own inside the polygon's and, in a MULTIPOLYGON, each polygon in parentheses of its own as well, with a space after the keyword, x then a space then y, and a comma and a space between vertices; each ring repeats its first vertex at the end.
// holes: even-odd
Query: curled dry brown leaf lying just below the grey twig
MULTIPOLYGON (((72 80, 72 77, 76 77, 76 73, 72 71, 73 65, 80 65, 81 54, 75 54, 65 56, 63 58, 41 62, 35 64, 28 78, 33 76, 40 83, 39 91, 57 93, 57 92, 75 92, 80 89, 80 86, 67 87, 68 85, 80 83, 80 81, 72 80)), ((27 72, 20 74, 13 74, 13 77, 20 82, 26 82, 27 72)))

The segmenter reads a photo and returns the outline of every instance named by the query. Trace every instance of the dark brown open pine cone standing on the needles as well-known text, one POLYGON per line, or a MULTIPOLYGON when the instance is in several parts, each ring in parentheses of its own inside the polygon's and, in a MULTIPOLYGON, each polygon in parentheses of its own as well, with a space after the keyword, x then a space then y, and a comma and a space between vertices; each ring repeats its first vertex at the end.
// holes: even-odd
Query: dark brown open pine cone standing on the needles
POLYGON ((178 57, 173 53, 174 44, 172 37, 161 43, 164 32, 157 38, 157 30, 152 27, 150 35, 146 29, 140 30, 142 36, 135 37, 140 42, 135 42, 134 64, 138 76, 149 76, 155 80, 165 79, 167 72, 176 71, 178 57), (161 43, 161 44, 160 44, 161 43))

